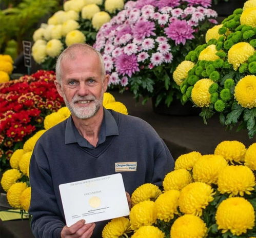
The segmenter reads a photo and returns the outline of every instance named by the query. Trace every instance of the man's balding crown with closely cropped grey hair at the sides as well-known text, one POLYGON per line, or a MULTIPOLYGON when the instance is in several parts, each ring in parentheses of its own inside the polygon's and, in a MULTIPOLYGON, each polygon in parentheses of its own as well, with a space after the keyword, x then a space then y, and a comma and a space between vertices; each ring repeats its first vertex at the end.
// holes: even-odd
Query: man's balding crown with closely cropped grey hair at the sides
POLYGON ((102 55, 99 51, 96 51, 93 47, 87 44, 73 44, 65 49, 60 56, 58 56, 56 63, 56 79, 59 83, 62 81, 62 63, 66 60, 75 60, 77 55, 91 55, 96 54, 99 57, 100 65, 101 65, 101 74, 102 77, 105 77, 106 71, 104 66, 104 61, 102 55))

